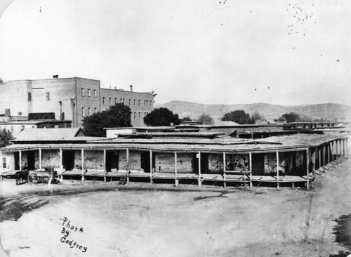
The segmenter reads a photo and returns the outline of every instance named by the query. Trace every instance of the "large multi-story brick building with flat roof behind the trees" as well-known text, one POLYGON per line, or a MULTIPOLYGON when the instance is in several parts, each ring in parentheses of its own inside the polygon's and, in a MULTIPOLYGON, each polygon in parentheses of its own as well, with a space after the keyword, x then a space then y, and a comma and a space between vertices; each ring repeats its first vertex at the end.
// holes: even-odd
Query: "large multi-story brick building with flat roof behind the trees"
POLYGON ((6 116, 54 113, 57 120, 79 127, 83 117, 124 103, 131 107, 132 126, 144 126, 143 118, 154 109, 154 92, 133 92, 100 87, 100 81, 79 77, 15 80, 0 84, 0 114, 6 116))

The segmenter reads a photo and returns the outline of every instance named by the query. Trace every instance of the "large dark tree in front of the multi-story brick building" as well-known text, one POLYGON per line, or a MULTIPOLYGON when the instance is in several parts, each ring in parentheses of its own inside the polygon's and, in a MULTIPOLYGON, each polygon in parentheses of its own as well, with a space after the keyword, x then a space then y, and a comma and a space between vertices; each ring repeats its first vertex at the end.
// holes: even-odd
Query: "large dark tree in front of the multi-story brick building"
POLYGON ((105 136, 104 128, 131 126, 131 108, 122 103, 109 109, 84 117, 83 131, 86 136, 105 136))

